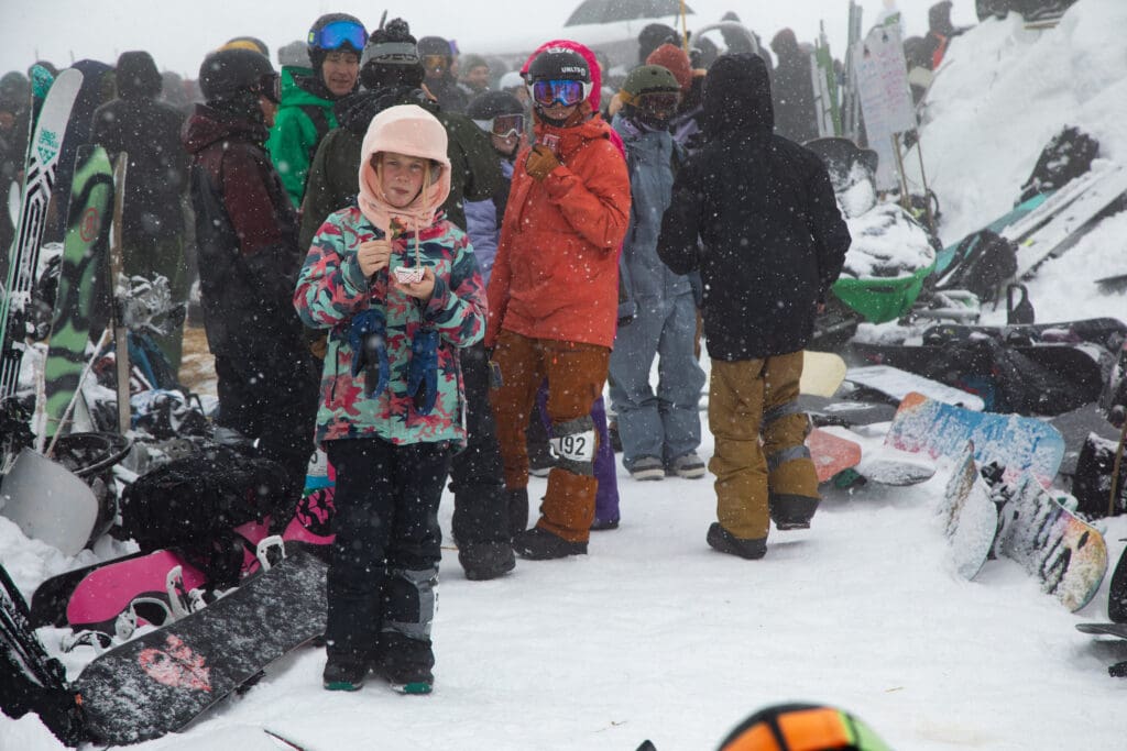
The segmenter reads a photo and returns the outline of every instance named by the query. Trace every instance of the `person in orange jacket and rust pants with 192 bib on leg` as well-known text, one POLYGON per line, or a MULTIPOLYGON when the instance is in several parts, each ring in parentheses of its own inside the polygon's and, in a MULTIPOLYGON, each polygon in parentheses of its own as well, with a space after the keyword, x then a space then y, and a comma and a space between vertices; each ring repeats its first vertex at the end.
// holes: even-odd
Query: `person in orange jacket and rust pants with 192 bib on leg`
POLYGON ((535 145, 517 157, 487 295, 491 401, 511 494, 527 492, 525 429, 548 379, 558 461, 536 526, 513 539, 532 560, 585 554, 595 513, 591 408, 614 342, 630 178, 611 127, 587 101, 591 81, 587 61, 566 47, 529 66, 535 145))

